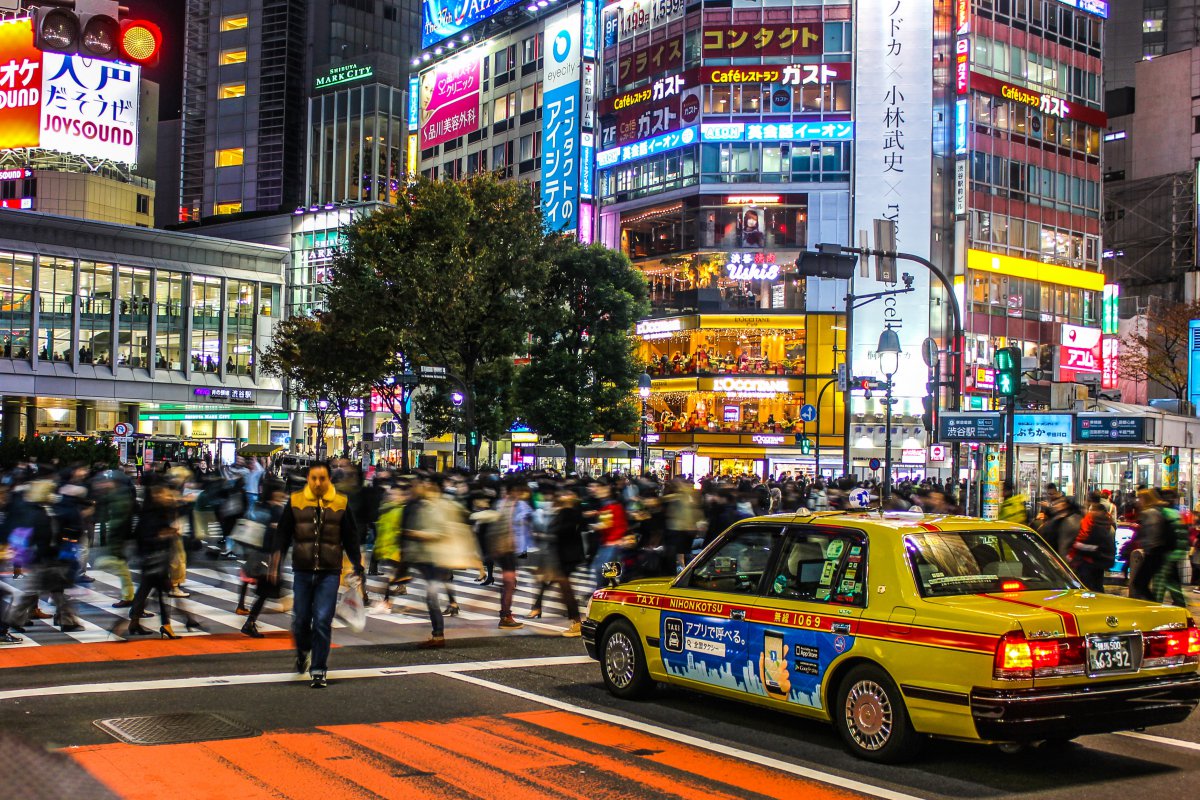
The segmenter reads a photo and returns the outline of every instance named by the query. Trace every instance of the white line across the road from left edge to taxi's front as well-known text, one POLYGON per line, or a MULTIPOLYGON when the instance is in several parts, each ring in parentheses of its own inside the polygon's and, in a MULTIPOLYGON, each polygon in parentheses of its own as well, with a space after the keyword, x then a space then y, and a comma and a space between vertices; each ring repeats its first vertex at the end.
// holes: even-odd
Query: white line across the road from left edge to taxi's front
MULTIPOLYGON (((260 640, 260 639, 256 639, 260 640)), ((124 645, 115 645, 124 646, 124 645)), ((329 679, 355 680, 361 678, 396 678, 401 675, 450 675, 461 672, 487 672, 491 669, 522 669, 534 667, 564 667, 589 663, 588 656, 542 656, 534 658, 500 658, 496 661, 464 661, 448 664, 410 664, 396 667, 368 667, 364 669, 332 669, 329 679)), ((106 692, 152 692, 178 688, 208 688, 211 686, 248 686, 252 684, 288 684, 308 680, 290 672, 247 675, 209 675, 203 678, 164 678, 160 680, 113 681, 109 684, 72 684, 67 686, 37 686, 0 692, 0 700, 29 697, 58 697, 65 694, 98 694, 106 692)))

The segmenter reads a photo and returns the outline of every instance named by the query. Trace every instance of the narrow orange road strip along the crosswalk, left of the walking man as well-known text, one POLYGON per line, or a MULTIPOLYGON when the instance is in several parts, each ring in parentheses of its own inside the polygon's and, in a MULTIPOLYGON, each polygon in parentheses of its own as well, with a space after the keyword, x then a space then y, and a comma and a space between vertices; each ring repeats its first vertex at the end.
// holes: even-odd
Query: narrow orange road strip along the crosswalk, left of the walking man
MULTIPOLYGON (((336 646, 336 645, 334 645, 336 646)), ((46 664, 97 663, 103 661, 139 661, 172 656, 210 656, 233 652, 268 652, 290 650, 292 636, 287 632, 266 633, 251 639, 241 633, 188 636, 179 639, 133 639, 130 642, 95 642, 90 644, 48 644, 41 648, 14 648, 0 655, 0 669, 42 667, 46 664)))

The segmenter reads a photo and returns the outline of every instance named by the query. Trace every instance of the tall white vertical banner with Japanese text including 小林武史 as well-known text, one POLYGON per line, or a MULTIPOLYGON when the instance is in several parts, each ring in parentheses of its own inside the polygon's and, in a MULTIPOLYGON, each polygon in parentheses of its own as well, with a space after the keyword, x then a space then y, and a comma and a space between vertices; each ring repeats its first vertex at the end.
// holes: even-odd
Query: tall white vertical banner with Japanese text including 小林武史
MULTIPOLYGON (((896 246, 929 258, 932 223, 934 4, 859 0, 854 68, 854 227, 871 230, 872 219, 896 223, 896 246)), ((894 330, 902 353, 914 359, 929 330, 929 273, 911 265, 913 291, 883 297, 854 325, 854 362, 872 363, 881 327, 894 330), (882 312, 882 313, 881 313, 882 312), (881 324, 869 320, 882 319, 881 324)), ((858 277, 856 294, 896 289, 858 277)), ((893 379, 896 397, 925 395, 925 372, 905 369, 893 379)))

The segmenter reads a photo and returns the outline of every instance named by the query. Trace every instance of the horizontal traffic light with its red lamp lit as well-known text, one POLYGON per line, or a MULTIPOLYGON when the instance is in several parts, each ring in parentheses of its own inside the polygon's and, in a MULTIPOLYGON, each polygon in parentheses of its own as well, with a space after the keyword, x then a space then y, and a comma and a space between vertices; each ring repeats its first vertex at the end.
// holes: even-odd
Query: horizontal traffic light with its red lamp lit
POLYGON ((158 64, 162 30, 144 19, 120 19, 116 0, 76 0, 76 7, 30 8, 34 47, 46 53, 78 54, 89 59, 122 60, 152 67, 158 64))

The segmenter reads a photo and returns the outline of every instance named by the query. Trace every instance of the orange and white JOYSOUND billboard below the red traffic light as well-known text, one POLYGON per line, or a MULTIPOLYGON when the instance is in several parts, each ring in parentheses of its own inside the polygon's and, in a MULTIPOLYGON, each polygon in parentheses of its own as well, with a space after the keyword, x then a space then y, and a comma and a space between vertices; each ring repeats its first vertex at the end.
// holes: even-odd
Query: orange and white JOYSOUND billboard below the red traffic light
POLYGON ((0 22, 0 150, 136 164, 142 67, 42 53, 28 18, 0 22))

